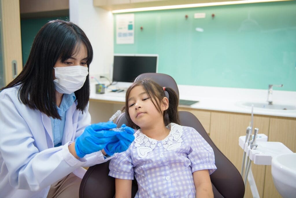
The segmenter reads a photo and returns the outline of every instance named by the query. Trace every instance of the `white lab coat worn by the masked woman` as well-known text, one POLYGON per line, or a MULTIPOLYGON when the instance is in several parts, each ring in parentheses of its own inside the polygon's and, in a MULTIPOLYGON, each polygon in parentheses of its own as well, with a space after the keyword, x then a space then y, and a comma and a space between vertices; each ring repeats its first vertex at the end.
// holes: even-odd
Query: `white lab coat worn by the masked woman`
MULTIPOLYGON (((50 117, 30 109, 17 97, 19 86, 0 92, 0 197, 46 197, 50 185, 83 167, 109 160, 101 151, 76 159, 68 150, 91 123, 74 103, 66 112, 62 145, 54 147, 50 117)), ((98 178, 99 179, 99 178, 98 178)))

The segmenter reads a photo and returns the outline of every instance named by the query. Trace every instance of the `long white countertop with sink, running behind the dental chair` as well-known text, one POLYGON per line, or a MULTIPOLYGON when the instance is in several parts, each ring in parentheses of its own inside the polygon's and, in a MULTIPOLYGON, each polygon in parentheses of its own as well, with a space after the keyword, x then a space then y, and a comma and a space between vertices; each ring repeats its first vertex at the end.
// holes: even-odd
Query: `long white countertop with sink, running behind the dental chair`
MULTIPOLYGON (((267 89, 242 89, 228 87, 205 87, 192 85, 178 85, 180 99, 199 101, 191 106, 183 106, 195 109, 226 111, 251 114, 251 106, 243 103, 268 103, 267 89)), ((110 92, 96 94, 94 85, 91 84, 90 99, 112 102, 124 102, 125 92, 110 92)), ((296 92, 273 90, 274 105, 296 106, 296 92)), ((266 108, 253 108, 253 113, 258 115, 282 116, 296 118, 296 110, 275 110, 266 108)))

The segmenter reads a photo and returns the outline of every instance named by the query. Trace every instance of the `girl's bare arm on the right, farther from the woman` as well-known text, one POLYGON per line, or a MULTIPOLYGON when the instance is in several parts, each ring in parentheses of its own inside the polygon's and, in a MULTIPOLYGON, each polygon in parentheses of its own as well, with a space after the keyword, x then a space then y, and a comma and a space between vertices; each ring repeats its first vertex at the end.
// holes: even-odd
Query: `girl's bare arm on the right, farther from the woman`
POLYGON ((214 197, 209 170, 193 172, 193 180, 196 189, 195 197, 214 197))

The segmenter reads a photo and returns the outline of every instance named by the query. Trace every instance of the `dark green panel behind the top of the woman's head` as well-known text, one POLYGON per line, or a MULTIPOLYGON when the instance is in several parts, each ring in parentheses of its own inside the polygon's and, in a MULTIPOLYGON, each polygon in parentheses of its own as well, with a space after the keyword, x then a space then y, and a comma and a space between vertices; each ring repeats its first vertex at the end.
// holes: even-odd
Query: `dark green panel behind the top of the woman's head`
POLYGON ((69 16, 20 20, 21 34, 22 34, 22 64, 23 65, 25 65, 28 60, 34 38, 38 33, 38 31, 40 30, 40 28, 45 23, 55 19, 69 21, 69 16))

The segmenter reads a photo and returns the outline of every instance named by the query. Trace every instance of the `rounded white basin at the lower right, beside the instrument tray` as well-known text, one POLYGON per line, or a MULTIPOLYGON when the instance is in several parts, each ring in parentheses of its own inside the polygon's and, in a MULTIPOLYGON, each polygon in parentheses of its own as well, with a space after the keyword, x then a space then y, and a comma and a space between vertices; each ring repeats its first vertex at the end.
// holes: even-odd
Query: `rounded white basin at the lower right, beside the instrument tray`
POLYGON ((296 194, 296 153, 281 154, 271 160, 271 175, 277 191, 284 198, 296 194))

